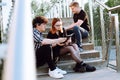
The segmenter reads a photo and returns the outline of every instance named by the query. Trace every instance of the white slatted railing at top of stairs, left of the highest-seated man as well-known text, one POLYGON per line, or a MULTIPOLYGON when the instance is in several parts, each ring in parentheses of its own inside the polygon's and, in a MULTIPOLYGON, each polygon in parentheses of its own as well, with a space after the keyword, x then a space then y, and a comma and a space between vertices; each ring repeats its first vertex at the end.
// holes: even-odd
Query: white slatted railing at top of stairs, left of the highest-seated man
POLYGON ((66 18, 72 17, 72 12, 69 9, 69 4, 73 0, 59 0, 45 15, 48 18, 59 17, 66 18))

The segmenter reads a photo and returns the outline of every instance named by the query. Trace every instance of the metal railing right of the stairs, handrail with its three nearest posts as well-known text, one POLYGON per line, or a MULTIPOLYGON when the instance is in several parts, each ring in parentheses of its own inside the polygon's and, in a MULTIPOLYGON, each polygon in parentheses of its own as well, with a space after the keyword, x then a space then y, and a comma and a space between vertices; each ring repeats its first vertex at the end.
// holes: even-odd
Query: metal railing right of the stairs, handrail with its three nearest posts
MULTIPOLYGON (((104 3, 98 1, 98 0, 95 0, 95 2, 97 2, 101 7, 104 7, 105 9, 108 10, 108 13, 109 13, 109 18, 110 18, 110 24, 109 24, 109 34, 107 36, 107 44, 106 44, 106 41, 105 41, 105 31, 104 31, 104 24, 101 23, 101 30, 103 31, 102 32, 102 44, 103 44, 103 59, 106 59, 107 60, 107 63, 108 63, 108 66, 109 66, 109 56, 110 56, 110 49, 111 49, 111 46, 112 46, 112 39, 113 39, 113 30, 115 31, 115 46, 116 46, 116 62, 117 62, 117 66, 116 66, 116 69, 118 72, 120 72, 120 48, 119 48, 119 21, 118 21, 118 14, 112 14, 112 11, 116 10, 116 9, 120 9, 120 5, 118 6, 115 6, 115 7, 108 7, 106 6, 104 3)), ((103 15, 103 13, 102 13, 103 15)), ((102 19, 101 19, 101 22, 102 19)), ((103 22, 104 23, 104 22, 103 22)))

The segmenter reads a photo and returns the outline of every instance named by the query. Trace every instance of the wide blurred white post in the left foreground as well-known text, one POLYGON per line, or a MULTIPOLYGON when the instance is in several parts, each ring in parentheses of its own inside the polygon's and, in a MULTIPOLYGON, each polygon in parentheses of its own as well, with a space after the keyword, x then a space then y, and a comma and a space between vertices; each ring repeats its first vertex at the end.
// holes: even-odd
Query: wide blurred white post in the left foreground
POLYGON ((36 80, 30 0, 15 0, 3 80, 36 80))

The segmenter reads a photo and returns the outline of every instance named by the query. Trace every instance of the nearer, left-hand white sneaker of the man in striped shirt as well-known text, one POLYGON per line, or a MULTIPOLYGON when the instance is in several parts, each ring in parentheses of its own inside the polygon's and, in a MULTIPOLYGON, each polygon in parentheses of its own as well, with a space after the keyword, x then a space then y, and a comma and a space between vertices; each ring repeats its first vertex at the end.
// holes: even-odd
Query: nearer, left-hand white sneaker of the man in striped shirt
POLYGON ((53 71, 51 71, 49 69, 48 75, 52 78, 63 78, 63 74, 61 74, 57 69, 54 69, 53 71))

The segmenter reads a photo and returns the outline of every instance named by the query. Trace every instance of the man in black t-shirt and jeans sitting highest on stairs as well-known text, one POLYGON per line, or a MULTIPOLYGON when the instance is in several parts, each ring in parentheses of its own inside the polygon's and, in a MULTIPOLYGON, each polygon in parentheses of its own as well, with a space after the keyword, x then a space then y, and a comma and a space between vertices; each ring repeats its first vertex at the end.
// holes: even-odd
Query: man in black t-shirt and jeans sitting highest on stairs
POLYGON ((83 51, 82 48, 82 39, 87 38, 89 35, 90 27, 88 24, 88 16, 85 11, 83 11, 78 2, 72 2, 69 6, 73 13, 73 20, 70 26, 66 27, 68 33, 73 32, 75 34, 75 41, 79 47, 80 51, 83 51))

